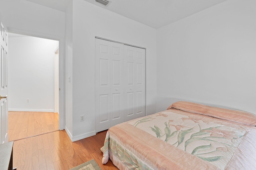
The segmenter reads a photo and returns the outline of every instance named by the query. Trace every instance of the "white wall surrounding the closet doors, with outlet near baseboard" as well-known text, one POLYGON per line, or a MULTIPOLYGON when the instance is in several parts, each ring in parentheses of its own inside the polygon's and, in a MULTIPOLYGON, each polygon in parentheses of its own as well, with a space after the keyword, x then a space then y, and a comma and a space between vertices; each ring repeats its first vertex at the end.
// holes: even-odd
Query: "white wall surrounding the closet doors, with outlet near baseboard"
POLYGON ((84 0, 73 0, 72 20, 72 63, 68 63, 73 66, 71 139, 95 134, 95 36, 146 48, 146 114, 155 113, 156 29, 84 0))

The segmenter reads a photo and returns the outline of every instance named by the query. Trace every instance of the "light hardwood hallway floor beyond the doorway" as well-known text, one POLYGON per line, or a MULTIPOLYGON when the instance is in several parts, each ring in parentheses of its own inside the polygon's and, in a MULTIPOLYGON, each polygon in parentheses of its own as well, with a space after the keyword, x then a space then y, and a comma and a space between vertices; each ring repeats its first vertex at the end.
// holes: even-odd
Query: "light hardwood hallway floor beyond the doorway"
POLYGON ((9 141, 59 130, 59 114, 49 112, 8 112, 9 141))

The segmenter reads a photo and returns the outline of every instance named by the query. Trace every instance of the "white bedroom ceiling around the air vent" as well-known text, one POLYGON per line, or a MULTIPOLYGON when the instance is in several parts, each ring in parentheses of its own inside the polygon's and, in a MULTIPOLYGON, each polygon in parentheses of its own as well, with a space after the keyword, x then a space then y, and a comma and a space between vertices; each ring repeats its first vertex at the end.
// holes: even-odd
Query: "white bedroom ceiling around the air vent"
MULTIPOLYGON (((70 0, 27 1, 65 12, 70 0)), ((226 0, 110 0, 107 7, 95 0, 85 1, 157 29, 226 0)))

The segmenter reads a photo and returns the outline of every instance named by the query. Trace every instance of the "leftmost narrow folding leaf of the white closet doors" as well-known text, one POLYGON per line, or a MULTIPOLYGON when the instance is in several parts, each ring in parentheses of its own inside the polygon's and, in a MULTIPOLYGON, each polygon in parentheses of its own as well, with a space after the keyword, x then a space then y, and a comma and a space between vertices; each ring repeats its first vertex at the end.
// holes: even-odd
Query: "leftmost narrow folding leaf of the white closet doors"
POLYGON ((111 44, 95 39, 96 132, 111 125, 111 44))

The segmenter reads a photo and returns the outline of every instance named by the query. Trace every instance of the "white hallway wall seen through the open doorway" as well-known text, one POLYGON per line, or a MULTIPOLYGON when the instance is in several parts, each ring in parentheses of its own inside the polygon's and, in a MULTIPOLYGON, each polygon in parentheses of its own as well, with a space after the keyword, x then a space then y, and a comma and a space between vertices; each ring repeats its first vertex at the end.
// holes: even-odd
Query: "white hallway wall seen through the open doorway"
POLYGON ((54 52, 58 41, 9 37, 8 45, 9 110, 54 112, 54 52))

